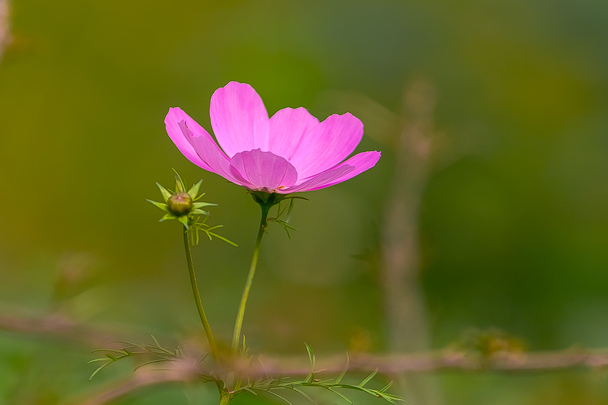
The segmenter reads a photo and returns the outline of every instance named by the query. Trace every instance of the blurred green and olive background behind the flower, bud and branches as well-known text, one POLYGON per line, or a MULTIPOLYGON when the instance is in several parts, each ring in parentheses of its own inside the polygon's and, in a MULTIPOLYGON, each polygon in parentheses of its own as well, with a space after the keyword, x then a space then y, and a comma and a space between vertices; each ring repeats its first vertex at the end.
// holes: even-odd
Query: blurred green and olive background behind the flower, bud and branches
MULTIPOLYGON (((229 341, 259 208, 188 162, 163 120, 179 106, 210 129, 213 91, 236 80, 271 115, 353 112, 366 128, 357 151, 382 151, 370 171, 305 193, 291 240, 269 229, 243 328, 254 352, 302 355, 303 342, 320 357, 392 350, 381 281, 392 201, 415 219, 425 347, 472 327, 519 336, 529 350, 608 346, 608 2, 10 5, 0 63, 3 313, 61 313, 167 344, 201 339, 180 227, 157 223, 161 211, 144 201, 160 199, 154 182, 170 186, 173 167, 190 184, 204 179, 204 200, 219 204, 209 223, 240 244, 203 240, 193 253, 210 323, 229 341), (407 94, 430 107, 412 107, 407 94), (432 145, 424 165, 399 146, 416 123, 432 145)), ((63 404, 130 375, 131 364, 117 365, 89 383, 90 349, 0 331, 0 403, 63 404)), ((608 403, 603 370, 442 372, 430 384, 432 395, 409 396, 407 383, 402 393, 415 405, 608 403)), ((170 386, 119 403, 215 395, 170 386)))

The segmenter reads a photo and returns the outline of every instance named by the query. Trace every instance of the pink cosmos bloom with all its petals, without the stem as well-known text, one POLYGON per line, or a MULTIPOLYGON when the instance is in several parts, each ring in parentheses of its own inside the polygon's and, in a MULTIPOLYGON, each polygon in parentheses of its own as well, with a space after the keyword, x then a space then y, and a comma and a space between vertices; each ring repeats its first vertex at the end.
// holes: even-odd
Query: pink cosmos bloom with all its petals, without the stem
POLYGON ((380 152, 362 152, 363 123, 350 113, 322 123, 299 107, 272 118, 249 84, 231 81, 211 97, 218 140, 179 108, 165 117, 167 134, 190 162, 250 190, 288 194, 344 182, 373 167, 380 152), (344 161, 344 162, 343 162, 344 161))

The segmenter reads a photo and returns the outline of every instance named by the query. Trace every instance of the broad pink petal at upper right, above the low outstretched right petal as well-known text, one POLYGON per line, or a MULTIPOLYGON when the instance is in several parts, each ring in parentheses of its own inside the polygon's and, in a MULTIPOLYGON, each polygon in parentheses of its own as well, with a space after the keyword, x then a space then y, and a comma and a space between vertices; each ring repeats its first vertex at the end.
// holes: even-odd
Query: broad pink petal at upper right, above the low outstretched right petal
POLYGON ((363 136, 363 123, 350 113, 330 115, 302 138, 289 162, 300 179, 310 177, 342 162, 363 136))

